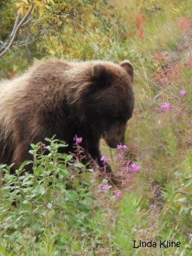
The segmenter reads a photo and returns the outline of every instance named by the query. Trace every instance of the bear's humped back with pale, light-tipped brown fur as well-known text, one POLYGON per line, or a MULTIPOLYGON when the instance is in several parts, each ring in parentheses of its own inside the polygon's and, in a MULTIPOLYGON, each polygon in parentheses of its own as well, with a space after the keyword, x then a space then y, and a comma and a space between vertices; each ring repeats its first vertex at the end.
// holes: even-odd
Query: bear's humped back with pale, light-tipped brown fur
POLYGON ((5 140, 11 132, 17 132, 17 126, 33 126, 39 122, 37 116, 58 108, 58 92, 67 69, 65 61, 39 61, 26 74, 0 82, 1 138, 5 140))

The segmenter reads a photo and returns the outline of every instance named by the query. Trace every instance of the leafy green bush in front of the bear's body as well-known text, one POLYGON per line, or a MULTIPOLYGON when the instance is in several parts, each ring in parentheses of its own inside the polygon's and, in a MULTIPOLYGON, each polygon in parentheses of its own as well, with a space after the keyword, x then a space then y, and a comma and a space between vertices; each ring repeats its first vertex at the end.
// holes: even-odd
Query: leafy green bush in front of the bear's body
MULTIPOLYGON (((46 140, 50 142, 48 154, 39 154, 39 143, 31 145, 34 161, 25 161, 16 175, 10 174, 9 166, 1 165, 1 239, 10 237, 6 246, 2 242, 3 253, 22 252, 23 246, 36 251, 34 243, 43 243, 42 234, 43 239, 53 236, 53 241, 61 240, 65 249, 72 234, 81 237, 89 228, 94 209, 94 195, 89 191, 93 187, 91 171, 74 163, 72 155, 58 153, 59 148, 66 147, 64 142, 46 140), (25 172, 29 163, 33 163, 34 174, 25 172), (61 230, 62 235, 52 234, 51 229, 58 235, 61 230), (66 234, 68 230, 73 231, 66 234)), ((51 243, 48 247, 54 245, 51 243)))

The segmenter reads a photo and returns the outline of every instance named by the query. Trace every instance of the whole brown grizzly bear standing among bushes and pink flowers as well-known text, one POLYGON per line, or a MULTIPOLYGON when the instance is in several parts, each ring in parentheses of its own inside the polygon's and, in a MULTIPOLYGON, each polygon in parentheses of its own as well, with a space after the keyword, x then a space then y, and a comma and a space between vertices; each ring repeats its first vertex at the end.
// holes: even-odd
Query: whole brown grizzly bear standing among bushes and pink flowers
POLYGON ((105 61, 39 61, 29 71, 0 83, 0 163, 18 167, 29 159, 30 143, 56 134, 73 151, 74 137, 111 174, 101 160, 99 140, 110 148, 124 143, 134 108, 133 68, 105 61))

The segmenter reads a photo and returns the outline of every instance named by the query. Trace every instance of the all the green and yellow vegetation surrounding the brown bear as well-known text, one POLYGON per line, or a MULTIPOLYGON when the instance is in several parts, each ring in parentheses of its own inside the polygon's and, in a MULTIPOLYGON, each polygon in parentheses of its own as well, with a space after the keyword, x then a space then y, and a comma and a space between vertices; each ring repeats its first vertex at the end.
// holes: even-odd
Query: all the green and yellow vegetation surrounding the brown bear
POLYGON ((191 255, 191 1, 1 1, 0 53, 30 6, 0 59, 1 78, 39 58, 129 59, 136 106, 128 149, 101 141, 121 187, 81 164, 81 143, 73 160, 55 138, 48 155, 41 142, 31 145, 34 174, 21 175, 28 161, 16 175, 0 166, 0 255, 191 255), (157 247, 134 249, 133 240, 157 247), (181 246, 159 249, 160 240, 181 246))

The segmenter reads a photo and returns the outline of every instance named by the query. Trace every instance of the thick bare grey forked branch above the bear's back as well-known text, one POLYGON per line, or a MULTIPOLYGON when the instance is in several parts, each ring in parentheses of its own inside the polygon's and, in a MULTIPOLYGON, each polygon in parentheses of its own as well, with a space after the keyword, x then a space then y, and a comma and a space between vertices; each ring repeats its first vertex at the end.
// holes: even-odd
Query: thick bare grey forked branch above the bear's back
POLYGON ((22 20, 19 22, 19 14, 17 15, 17 18, 15 20, 15 23, 14 23, 14 27, 13 27, 13 30, 11 32, 11 35, 10 35, 10 42, 8 43, 5 42, 5 44, 1 47, 0 50, 2 50, 4 48, 4 50, 0 53, 0 58, 7 52, 10 50, 11 46, 13 45, 13 42, 15 40, 15 37, 17 36, 17 33, 20 29, 20 27, 23 25, 23 23, 27 20, 27 18, 29 17, 29 15, 31 14, 31 11, 33 10, 33 7, 34 5, 31 5, 28 12, 25 14, 25 16, 22 18, 22 20), (19 22, 19 23, 18 23, 19 22))

